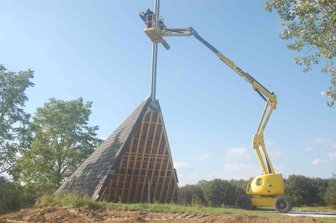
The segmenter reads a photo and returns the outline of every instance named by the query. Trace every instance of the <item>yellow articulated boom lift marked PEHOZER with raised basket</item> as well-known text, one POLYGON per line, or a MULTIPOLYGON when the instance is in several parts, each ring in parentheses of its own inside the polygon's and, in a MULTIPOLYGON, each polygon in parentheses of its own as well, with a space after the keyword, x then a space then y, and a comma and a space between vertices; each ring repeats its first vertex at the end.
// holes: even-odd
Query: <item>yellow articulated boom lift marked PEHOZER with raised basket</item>
MULTIPOLYGON (((142 20, 147 23, 145 16, 139 15, 142 20)), ((263 87, 256 79, 254 79, 249 73, 245 72, 242 68, 237 66, 234 62, 224 56, 211 44, 205 41, 198 33, 189 27, 186 29, 168 29, 164 24, 164 19, 161 16, 153 17, 153 27, 144 29, 146 35, 150 38, 153 43, 162 43, 165 47, 169 45, 165 42, 163 37, 165 36, 194 36, 206 47, 208 47, 212 52, 214 52, 221 61, 226 63, 234 71, 238 73, 239 76, 243 77, 247 82, 251 83, 252 89, 256 91, 261 98, 266 101, 265 108, 262 112, 261 119, 259 121, 257 131, 253 136, 252 147, 254 148, 258 160, 260 162, 263 175, 257 176, 251 179, 246 188, 246 194, 240 196, 236 199, 236 207, 240 209, 254 210, 257 206, 273 206, 277 212, 287 213, 292 209, 292 202, 289 198, 281 196, 284 193, 284 185, 282 174, 276 174, 274 168, 271 164, 269 156, 267 154, 263 132, 267 125, 267 122, 272 114, 272 111, 276 109, 277 96, 274 93, 270 93, 265 87, 263 87), (268 113, 267 109, 269 107, 268 113), (259 147, 261 147, 262 152, 265 155, 266 165, 264 163, 263 157, 260 153, 259 147)), ((168 48, 166 47, 168 50, 168 48)))

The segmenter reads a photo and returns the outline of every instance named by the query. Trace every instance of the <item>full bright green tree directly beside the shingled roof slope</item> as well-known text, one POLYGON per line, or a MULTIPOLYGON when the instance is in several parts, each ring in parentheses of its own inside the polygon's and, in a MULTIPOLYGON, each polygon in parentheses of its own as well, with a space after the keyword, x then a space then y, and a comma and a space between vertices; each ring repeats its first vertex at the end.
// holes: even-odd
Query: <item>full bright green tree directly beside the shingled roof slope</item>
POLYGON ((91 105, 83 98, 50 98, 37 108, 31 124, 34 141, 30 149, 20 150, 27 158, 13 170, 16 179, 32 190, 57 189, 102 143, 96 137, 98 126, 87 123, 91 105))

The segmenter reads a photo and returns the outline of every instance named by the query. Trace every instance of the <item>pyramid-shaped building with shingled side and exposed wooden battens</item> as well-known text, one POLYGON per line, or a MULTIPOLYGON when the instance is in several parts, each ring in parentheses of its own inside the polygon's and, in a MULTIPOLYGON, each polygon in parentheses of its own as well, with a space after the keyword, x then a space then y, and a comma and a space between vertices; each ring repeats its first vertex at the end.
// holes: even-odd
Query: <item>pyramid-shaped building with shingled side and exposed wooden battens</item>
POLYGON ((180 203, 181 193, 159 101, 146 98, 55 194, 123 203, 180 203))

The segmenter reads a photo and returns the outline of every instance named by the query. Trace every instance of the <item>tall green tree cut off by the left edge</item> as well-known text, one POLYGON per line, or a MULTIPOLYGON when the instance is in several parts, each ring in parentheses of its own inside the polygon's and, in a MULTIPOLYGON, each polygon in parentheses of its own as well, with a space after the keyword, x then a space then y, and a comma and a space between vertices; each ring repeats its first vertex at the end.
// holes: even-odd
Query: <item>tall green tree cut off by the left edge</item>
POLYGON ((30 114, 23 108, 28 101, 25 91, 33 87, 34 71, 8 71, 0 64, 0 174, 16 165, 19 143, 30 140, 30 114))

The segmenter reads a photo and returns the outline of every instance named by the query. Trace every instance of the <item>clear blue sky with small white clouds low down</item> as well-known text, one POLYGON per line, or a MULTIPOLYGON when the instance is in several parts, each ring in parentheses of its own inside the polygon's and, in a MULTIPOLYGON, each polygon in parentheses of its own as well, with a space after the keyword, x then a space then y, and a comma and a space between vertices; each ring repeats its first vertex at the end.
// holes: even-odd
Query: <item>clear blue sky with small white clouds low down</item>
MULTIPOLYGON (((329 178, 336 172, 335 108, 322 64, 304 73, 266 1, 161 0, 170 28, 201 37, 278 96, 264 132, 276 173, 329 178)), ((93 101, 90 125, 108 137, 149 95, 152 42, 138 17, 153 1, 5 1, 0 63, 35 70, 25 111, 50 97, 93 101)), ((194 37, 166 37, 158 49, 157 98, 179 185, 261 174, 252 137, 265 102, 194 37)), ((291 40, 292 41, 292 40, 291 40)), ((289 41, 289 42, 291 42, 289 41)))

